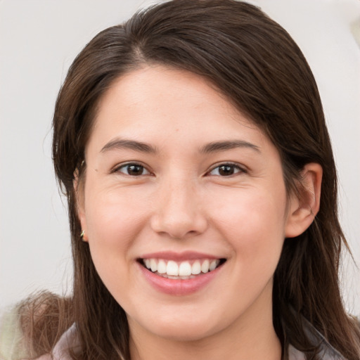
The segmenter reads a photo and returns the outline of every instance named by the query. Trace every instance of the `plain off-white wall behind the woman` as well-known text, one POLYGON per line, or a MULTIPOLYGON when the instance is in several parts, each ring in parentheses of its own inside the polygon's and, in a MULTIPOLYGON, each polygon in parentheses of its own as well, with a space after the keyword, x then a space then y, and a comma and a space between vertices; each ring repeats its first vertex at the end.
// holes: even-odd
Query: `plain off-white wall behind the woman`
MULTIPOLYGON (((318 82, 340 176, 341 221, 360 266, 358 0, 254 0, 293 36, 318 82)), ((51 117, 72 60, 143 0, 0 0, 0 307, 34 290, 65 293, 72 263, 65 199, 51 164, 51 117)), ((360 271, 345 259, 347 309, 360 271)))

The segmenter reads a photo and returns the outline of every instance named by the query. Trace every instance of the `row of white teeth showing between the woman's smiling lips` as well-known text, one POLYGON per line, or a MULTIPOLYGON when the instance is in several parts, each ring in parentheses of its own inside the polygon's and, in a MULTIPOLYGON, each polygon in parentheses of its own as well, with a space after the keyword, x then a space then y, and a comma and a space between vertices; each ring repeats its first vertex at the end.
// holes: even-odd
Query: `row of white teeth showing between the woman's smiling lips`
POLYGON ((214 271, 224 262, 226 259, 195 259, 183 262, 155 258, 139 259, 139 263, 153 274, 174 280, 196 278, 214 271))

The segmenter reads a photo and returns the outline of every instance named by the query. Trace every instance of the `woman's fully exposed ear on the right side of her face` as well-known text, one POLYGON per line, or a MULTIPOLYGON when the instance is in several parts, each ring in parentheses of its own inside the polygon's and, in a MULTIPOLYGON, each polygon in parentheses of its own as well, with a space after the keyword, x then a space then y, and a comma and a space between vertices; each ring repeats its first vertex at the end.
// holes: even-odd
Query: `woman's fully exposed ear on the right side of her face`
POLYGON ((288 219, 285 225, 285 237, 294 238, 303 233, 314 221, 319 212, 321 179, 323 168, 311 162, 304 166, 297 193, 290 198, 288 219))

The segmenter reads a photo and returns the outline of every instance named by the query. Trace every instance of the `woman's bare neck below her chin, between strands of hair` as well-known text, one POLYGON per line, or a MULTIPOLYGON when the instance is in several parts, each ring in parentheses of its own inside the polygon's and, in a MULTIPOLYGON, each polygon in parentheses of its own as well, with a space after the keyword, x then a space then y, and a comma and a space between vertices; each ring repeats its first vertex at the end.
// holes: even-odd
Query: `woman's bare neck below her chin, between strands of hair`
POLYGON ((269 306, 252 306, 217 333, 196 340, 164 338, 129 321, 131 360, 281 359, 269 306))

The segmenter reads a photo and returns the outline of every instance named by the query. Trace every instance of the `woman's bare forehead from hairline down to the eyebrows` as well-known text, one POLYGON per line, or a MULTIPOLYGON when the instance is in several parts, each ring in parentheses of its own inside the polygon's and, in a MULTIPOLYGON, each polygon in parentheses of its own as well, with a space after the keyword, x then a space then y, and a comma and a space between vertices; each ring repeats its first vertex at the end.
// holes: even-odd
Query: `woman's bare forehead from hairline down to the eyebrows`
POLYGON ((122 75, 98 105, 90 143, 97 147, 116 136, 184 146, 202 141, 269 141, 203 77, 160 65, 122 75))

